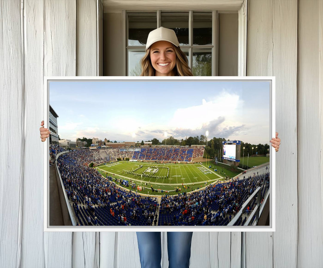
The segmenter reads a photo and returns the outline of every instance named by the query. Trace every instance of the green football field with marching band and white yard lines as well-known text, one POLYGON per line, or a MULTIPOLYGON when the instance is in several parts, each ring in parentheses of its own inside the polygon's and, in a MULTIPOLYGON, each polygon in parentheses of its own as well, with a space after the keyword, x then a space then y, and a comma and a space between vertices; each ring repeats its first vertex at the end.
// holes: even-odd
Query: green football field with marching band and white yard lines
MULTIPOLYGON (((201 164, 157 164, 142 162, 115 162, 96 167, 104 176, 108 174, 113 178, 129 181, 128 189, 131 189, 130 180, 136 185, 164 191, 172 191, 175 187, 183 188, 183 185, 190 187, 186 192, 204 187, 216 180, 223 179, 221 174, 208 169, 201 164), (147 185, 146 185, 147 183, 147 185), (206 183, 206 184, 205 184, 206 183)), ((182 189, 183 190, 183 189, 182 189)), ((141 193, 152 193, 150 189, 141 193)), ((172 194, 177 194, 173 192, 172 194)))

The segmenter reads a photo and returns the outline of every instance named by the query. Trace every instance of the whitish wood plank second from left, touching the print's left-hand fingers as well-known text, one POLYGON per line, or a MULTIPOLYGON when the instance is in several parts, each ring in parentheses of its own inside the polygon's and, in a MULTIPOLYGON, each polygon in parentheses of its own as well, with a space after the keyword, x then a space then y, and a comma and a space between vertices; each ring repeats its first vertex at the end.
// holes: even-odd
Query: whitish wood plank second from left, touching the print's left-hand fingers
POLYGON ((44 119, 43 56, 44 2, 24 1, 25 158, 20 267, 45 267, 44 253, 44 143, 39 138, 44 119), (32 157, 31 157, 32 156, 32 157), (37 168, 35 168, 37 167, 37 168), (33 245, 33 246, 31 246, 33 245))

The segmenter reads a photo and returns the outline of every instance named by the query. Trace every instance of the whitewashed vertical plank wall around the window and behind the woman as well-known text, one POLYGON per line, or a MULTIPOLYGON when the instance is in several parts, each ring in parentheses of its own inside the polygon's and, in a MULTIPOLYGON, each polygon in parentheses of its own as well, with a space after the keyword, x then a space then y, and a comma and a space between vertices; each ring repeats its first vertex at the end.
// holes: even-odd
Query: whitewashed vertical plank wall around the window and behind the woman
MULTIPOLYGON (((98 6, 1 2, 0 267, 140 267, 135 233, 43 232, 43 75, 98 74, 98 6)), ((190 267, 321 267, 323 3, 250 0, 247 25, 247 75, 276 76, 276 232, 194 233, 190 267)))

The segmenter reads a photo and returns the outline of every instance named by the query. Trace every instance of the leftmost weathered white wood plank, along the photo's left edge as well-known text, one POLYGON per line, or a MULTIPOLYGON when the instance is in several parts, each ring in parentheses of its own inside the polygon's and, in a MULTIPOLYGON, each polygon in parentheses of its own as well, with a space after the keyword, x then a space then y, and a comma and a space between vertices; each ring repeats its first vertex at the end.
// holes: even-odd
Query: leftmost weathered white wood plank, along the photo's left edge
POLYGON ((0 266, 18 267, 25 153, 20 1, 1 2, 0 29, 0 266), (8 148, 11 141, 14 150, 8 148))

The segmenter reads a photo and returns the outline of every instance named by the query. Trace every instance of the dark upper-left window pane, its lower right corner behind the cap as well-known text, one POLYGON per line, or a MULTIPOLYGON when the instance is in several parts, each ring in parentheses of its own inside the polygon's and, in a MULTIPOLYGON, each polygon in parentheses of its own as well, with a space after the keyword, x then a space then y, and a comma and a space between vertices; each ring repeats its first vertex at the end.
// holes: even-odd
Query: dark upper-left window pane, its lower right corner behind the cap
POLYGON ((149 32, 156 28, 156 13, 128 14, 128 45, 146 45, 149 32))

